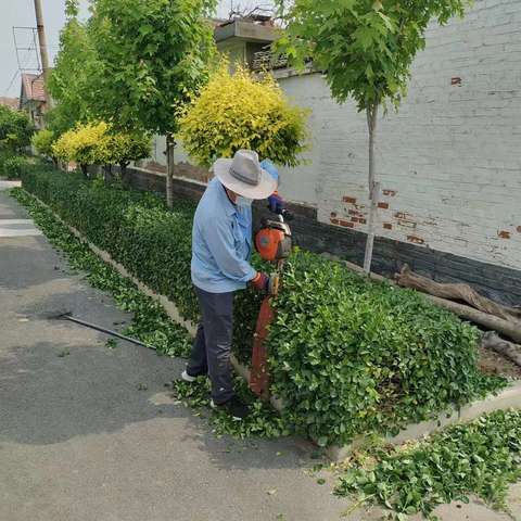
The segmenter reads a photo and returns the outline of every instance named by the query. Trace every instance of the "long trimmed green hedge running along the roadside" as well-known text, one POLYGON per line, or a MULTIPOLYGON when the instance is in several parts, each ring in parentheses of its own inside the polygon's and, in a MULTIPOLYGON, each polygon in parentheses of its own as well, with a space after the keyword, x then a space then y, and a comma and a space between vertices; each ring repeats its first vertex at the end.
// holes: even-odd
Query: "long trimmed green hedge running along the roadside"
MULTIPOLYGON (((28 168, 24 188, 158 293, 185 318, 199 310, 190 282, 194 206, 28 168)), ((255 260, 257 262, 257 260, 255 260)), ((239 292, 234 350, 246 359, 259 298, 239 292)), ((296 252, 287 263, 268 339, 283 415, 321 445, 395 432, 505 385, 476 368, 478 330, 420 294, 369 282, 296 252)))

